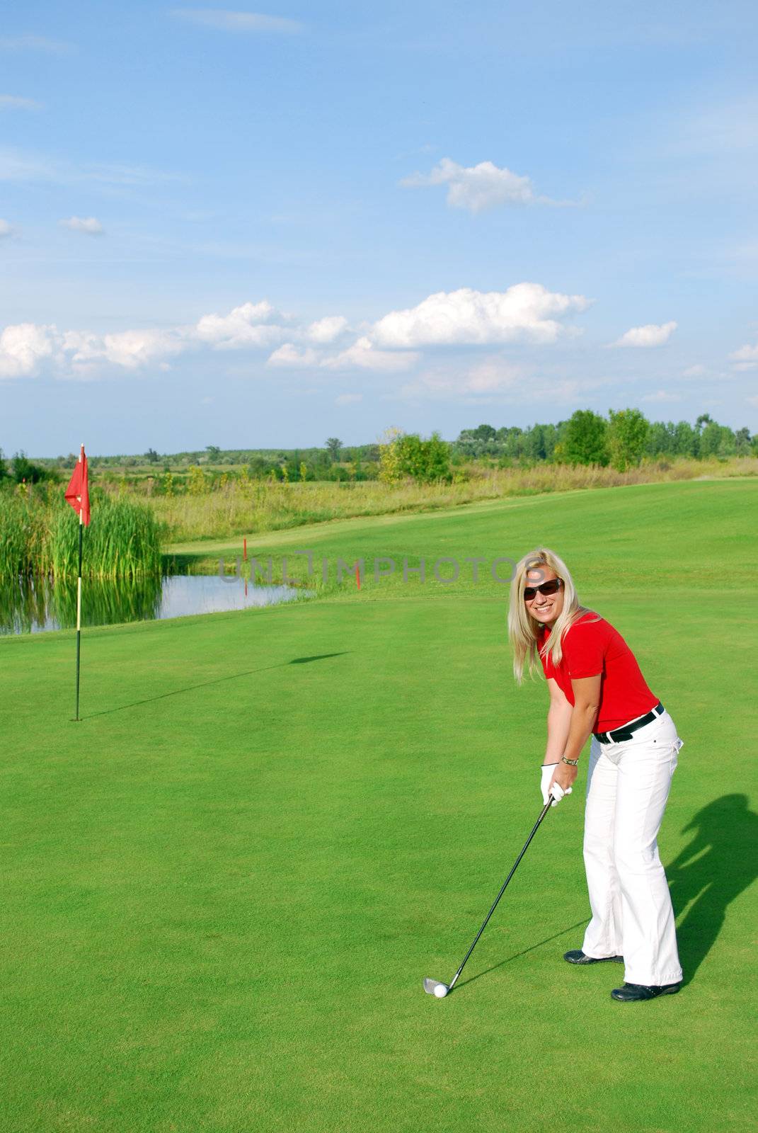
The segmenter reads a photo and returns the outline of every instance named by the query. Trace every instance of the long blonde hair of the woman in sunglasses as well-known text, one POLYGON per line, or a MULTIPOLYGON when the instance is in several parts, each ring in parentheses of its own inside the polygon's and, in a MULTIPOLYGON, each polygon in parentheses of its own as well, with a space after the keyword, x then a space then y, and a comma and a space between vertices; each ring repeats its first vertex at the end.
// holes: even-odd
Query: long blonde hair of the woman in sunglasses
POLYGON ((577 589, 569 568, 550 547, 537 547, 520 560, 511 582, 511 600, 508 611, 508 636, 513 646, 513 674, 521 683, 523 666, 528 661, 529 675, 538 667, 539 654, 537 640, 542 623, 527 611, 523 600, 523 588, 527 586, 527 571, 538 566, 547 566, 563 581, 563 610, 542 648, 543 656, 548 656, 554 665, 561 664, 563 656, 563 637, 573 623, 588 613, 579 602, 577 589))

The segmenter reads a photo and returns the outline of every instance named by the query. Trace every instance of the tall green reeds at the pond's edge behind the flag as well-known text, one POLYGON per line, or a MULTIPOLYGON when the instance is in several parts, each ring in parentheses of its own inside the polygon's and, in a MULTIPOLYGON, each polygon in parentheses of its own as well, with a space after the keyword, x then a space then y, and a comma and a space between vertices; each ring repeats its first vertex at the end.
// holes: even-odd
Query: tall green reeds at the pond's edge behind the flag
MULTIPOLYGON (((61 499, 0 492, 0 579, 76 578, 78 517, 61 499)), ((143 578, 161 573, 160 523, 151 509, 103 493, 93 499, 84 534, 87 578, 143 578)))

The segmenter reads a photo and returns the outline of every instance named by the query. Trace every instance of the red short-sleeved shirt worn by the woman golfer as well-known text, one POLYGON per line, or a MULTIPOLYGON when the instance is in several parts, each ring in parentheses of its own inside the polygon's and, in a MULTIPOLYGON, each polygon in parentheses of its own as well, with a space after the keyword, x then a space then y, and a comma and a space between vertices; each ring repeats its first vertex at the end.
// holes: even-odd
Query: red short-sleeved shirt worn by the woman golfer
MULTIPOLYGON (((542 650, 548 636, 547 627, 540 630, 537 642, 542 650)), ((648 689, 645 678, 621 633, 613 625, 591 612, 563 636, 563 657, 557 668, 550 657, 540 659, 545 676, 553 678, 573 705, 571 680, 601 674, 601 706, 594 732, 610 732, 650 712, 658 702, 648 689)))

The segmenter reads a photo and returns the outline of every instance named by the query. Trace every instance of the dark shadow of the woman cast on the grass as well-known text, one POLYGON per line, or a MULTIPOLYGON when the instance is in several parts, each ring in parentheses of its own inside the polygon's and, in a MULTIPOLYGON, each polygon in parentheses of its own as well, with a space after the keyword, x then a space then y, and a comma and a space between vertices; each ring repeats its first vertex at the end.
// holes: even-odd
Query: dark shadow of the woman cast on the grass
POLYGON ((692 841, 666 867, 679 956, 689 983, 722 930, 726 909, 758 877, 758 815, 744 794, 725 794, 699 810, 682 833, 692 841))

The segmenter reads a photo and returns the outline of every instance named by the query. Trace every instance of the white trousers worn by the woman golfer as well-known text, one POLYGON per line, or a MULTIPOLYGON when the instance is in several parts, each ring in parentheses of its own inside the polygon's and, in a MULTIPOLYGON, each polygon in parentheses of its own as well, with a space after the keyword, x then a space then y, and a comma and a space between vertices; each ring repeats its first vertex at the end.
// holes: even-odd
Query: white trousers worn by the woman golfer
POLYGON ((585 869, 593 919, 582 952, 623 956, 628 983, 676 983, 682 969, 657 836, 682 741, 667 712, 630 740, 593 736, 585 869))

